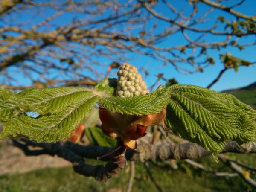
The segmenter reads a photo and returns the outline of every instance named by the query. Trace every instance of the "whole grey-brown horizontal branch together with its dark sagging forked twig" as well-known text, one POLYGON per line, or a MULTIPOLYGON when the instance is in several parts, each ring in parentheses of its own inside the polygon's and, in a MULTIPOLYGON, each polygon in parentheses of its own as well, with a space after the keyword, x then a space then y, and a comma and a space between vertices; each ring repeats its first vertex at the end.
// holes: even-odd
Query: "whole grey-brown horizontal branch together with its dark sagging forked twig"
MULTIPOLYGON (((138 145, 137 151, 134 151, 126 149, 119 139, 117 140, 116 148, 84 146, 69 141, 35 143, 24 138, 20 140, 13 139, 12 141, 13 145, 23 150, 28 156, 40 154, 57 155, 70 161, 75 172, 84 176, 95 177, 96 180, 107 180, 116 175, 121 169, 125 168, 127 160, 145 162, 146 160, 197 159, 211 154, 211 152, 195 143, 174 145, 143 144, 138 145), (42 149, 31 150, 29 147, 42 149), (100 157, 103 161, 108 161, 108 163, 105 166, 93 166, 84 162, 84 158, 97 159, 97 157, 100 157)), ((226 152, 256 153, 256 143, 251 142, 240 146, 234 141, 228 141, 222 153, 226 152)), ((241 163, 239 165, 242 166, 241 163)), ((247 167, 247 169, 249 168, 247 167)), ((254 171, 254 169, 250 170, 254 171)))

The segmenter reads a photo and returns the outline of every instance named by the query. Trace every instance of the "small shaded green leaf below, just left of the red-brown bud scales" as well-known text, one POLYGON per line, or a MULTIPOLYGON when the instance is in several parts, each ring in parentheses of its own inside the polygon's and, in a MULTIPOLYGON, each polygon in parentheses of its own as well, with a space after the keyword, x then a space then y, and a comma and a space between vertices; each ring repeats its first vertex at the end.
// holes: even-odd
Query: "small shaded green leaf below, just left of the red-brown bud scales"
POLYGON ((85 128, 85 134, 92 145, 115 147, 116 139, 105 135, 100 128, 85 128))

